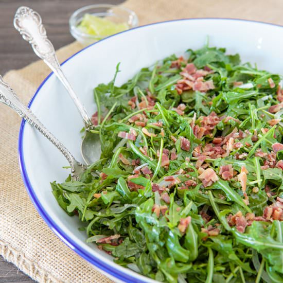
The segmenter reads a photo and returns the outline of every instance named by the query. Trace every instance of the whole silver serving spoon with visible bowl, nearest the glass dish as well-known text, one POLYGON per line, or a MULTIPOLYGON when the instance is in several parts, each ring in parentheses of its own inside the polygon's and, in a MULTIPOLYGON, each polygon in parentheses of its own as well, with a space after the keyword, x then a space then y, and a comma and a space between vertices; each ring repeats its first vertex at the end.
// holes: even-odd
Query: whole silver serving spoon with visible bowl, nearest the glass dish
POLYGON ((90 132, 94 127, 93 123, 62 71, 54 46, 47 38, 41 16, 28 7, 20 7, 14 16, 14 27, 20 32, 23 39, 29 42, 34 53, 54 72, 75 102, 85 126, 85 136, 81 143, 81 154, 87 165, 94 163, 98 160, 101 152, 98 136, 90 132))

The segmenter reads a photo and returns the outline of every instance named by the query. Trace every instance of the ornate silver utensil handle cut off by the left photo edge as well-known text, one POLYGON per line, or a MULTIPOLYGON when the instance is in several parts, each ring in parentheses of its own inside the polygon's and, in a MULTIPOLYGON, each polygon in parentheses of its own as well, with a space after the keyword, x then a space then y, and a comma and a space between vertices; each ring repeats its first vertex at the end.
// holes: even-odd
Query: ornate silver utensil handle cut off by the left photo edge
POLYGON ((52 135, 45 126, 41 123, 41 121, 34 115, 30 109, 25 107, 25 105, 19 100, 15 92, 11 89, 11 87, 3 81, 0 76, 0 102, 8 105, 17 114, 20 115, 21 118, 25 119, 30 125, 36 128, 40 133, 42 133, 47 139, 54 144, 61 153, 66 157, 66 160, 69 162, 72 177, 75 180, 79 179, 79 176, 83 172, 83 165, 81 165, 78 161, 75 160, 75 157, 66 149, 66 147, 54 136, 52 135))

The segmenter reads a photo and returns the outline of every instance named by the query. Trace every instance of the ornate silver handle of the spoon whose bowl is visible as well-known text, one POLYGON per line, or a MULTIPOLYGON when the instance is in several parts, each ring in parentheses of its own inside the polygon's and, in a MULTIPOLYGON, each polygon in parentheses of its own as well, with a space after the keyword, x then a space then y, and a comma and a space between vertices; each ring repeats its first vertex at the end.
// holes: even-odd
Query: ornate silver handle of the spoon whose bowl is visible
POLYGON ((58 62, 54 46, 48 40, 46 30, 42 24, 41 16, 28 7, 20 7, 14 16, 14 27, 19 31, 24 40, 28 41, 36 55, 41 58, 54 72, 65 86, 70 97, 74 100, 86 127, 92 127, 89 115, 66 79, 58 62))

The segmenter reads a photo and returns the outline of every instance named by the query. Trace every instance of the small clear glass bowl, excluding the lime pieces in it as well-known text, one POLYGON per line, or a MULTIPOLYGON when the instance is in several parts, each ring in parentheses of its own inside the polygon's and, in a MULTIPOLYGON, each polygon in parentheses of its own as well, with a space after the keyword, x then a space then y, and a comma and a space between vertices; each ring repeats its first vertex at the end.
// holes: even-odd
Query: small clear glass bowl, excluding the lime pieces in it
POLYGON ((93 36, 82 32, 77 26, 82 21, 84 14, 92 14, 99 17, 107 17, 114 23, 127 23, 130 28, 138 26, 135 12, 121 6, 97 4, 82 7, 76 10, 69 19, 69 28, 72 36, 82 45, 87 46, 101 39, 101 36, 93 36))

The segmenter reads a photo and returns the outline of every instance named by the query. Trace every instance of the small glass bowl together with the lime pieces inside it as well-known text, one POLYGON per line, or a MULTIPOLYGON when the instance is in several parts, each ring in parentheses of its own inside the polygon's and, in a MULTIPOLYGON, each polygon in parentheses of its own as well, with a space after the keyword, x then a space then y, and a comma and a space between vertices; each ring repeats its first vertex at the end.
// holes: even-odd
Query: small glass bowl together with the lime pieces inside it
POLYGON ((137 25, 133 11, 105 4, 83 7, 69 19, 70 33, 85 46, 137 25))

